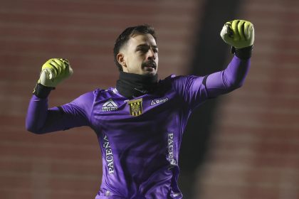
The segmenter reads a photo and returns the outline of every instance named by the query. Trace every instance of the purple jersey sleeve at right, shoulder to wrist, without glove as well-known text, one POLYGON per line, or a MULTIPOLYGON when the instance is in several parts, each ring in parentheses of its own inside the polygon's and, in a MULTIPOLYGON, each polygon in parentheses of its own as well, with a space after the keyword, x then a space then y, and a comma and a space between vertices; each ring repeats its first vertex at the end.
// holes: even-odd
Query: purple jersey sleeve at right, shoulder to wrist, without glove
POLYGON ((243 85, 250 66, 250 60, 234 56, 225 70, 204 77, 195 75, 174 77, 172 86, 191 109, 206 99, 226 94, 243 85))

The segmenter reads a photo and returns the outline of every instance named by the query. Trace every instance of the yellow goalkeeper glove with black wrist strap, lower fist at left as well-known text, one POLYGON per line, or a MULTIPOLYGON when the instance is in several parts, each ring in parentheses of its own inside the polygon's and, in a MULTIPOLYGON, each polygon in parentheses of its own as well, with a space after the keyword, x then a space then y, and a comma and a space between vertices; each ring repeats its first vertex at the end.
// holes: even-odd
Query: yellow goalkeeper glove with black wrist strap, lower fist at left
POLYGON ((61 58, 52 58, 43 64, 41 75, 38 79, 33 94, 37 97, 46 98, 51 90, 55 89, 58 83, 73 74, 68 60, 61 58))

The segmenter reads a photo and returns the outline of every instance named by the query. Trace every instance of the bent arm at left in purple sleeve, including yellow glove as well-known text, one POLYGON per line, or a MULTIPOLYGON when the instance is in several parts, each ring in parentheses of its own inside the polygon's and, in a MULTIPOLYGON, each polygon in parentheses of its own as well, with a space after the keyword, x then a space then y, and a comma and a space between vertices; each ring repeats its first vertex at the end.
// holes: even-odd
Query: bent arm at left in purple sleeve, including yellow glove
MULTIPOLYGON (((72 75, 68 60, 50 59, 41 69, 41 76, 33 91, 26 115, 26 129, 35 134, 59 131, 88 125, 85 114, 73 103, 73 108, 63 111, 61 107, 48 109, 48 95, 59 82, 72 75)), ((71 106, 71 105, 70 105, 71 106)))

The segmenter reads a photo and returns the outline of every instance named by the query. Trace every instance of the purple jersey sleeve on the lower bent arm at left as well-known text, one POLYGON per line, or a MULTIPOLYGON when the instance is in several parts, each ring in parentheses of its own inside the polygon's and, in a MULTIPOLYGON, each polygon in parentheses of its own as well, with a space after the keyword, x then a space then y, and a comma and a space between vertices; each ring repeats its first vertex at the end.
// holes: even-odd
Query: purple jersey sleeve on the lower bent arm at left
POLYGON ((61 107, 48 109, 48 99, 33 95, 26 116, 26 129, 36 134, 90 126, 94 92, 88 92, 61 107))

